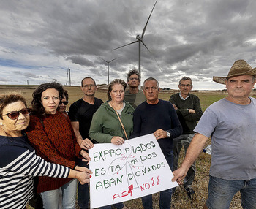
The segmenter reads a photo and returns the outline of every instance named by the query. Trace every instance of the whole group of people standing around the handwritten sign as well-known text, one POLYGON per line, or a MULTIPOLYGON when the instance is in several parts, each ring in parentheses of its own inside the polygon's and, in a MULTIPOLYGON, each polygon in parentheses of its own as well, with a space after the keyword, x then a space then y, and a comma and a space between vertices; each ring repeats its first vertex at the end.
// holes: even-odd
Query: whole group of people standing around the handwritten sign
MULTIPOLYGON (((89 208, 88 150, 95 143, 124 144, 125 140, 153 133, 173 170, 173 181, 195 195, 195 160, 211 137, 212 163, 208 199, 204 208, 229 208, 237 191, 243 208, 256 208, 256 100, 249 97, 256 70, 236 61, 227 77, 214 77, 226 85, 227 97, 203 113, 199 98, 191 94, 192 79, 182 77, 179 92, 170 101, 159 99, 159 82, 148 77, 139 89, 140 73, 132 69, 127 83, 113 80, 108 101, 95 97, 91 77, 81 81, 83 98, 71 104, 59 83, 44 83, 33 93, 31 110, 19 94, 0 96, 0 208, 25 208, 35 194, 43 208, 89 208), (129 91, 126 91, 127 84, 129 91), (199 121, 197 123, 197 121, 199 121), (178 168, 181 148, 185 159, 178 168), (38 178, 37 178, 38 176, 38 178), (74 178, 74 179, 72 179, 74 178), (77 178, 79 183, 77 183, 77 178)), ((160 192, 159 208, 169 209, 175 189, 160 192)), ((152 195, 142 197, 152 209, 152 195)), ((123 202, 100 209, 126 209, 123 202)))

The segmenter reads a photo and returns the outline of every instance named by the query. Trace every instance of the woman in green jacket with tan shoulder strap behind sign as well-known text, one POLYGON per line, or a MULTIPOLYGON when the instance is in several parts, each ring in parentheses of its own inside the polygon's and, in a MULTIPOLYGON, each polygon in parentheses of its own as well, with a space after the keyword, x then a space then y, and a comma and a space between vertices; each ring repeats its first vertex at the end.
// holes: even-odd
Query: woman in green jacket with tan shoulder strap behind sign
MULTIPOLYGON (((129 138, 133 129, 132 118, 135 110, 132 105, 124 101, 126 87, 127 84, 121 79, 115 79, 110 83, 108 101, 99 107, 91 121, 89 136, 92 140, 99 143, 122 145, 124 140, 129 138), (125 132, 121 123, 124 125, 125 132)), ((115 206, 117 209, 127 208, 122 202, 115 206)), ((111 208, 111 205, 102 208, 108 209, 111 208)))

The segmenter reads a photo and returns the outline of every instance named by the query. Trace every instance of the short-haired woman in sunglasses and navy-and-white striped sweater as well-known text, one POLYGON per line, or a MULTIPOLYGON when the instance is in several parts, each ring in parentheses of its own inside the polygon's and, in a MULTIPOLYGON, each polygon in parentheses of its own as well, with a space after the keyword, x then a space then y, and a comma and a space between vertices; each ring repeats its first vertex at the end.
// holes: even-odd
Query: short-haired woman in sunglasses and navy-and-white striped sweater
MULTIPOLYGON (((26 208, 32 197, 34 177, 78 178, 89 182, 86 172, 77 172, 41 159, 29 145, 24 129, 29 109, 20 94, 0 95, 0 208, 26 208)), ((84 169, 84 171, 88 171, 84 169)))

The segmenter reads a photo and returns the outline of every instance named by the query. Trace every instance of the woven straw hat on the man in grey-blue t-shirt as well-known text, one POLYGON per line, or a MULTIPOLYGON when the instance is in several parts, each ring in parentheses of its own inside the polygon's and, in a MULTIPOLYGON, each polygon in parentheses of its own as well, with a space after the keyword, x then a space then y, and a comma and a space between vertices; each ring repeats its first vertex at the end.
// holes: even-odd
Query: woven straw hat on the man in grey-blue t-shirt
POLYGON ((225 80, 230 77, 235 77, 238 75, 253 75, 256 76, 256 68, 252 69, 252 66, 246 63, 243 59, 234 62, 233 66, 230 68, 227 77, 214 76, 213 80, 217 83, 225 84, 225 80))

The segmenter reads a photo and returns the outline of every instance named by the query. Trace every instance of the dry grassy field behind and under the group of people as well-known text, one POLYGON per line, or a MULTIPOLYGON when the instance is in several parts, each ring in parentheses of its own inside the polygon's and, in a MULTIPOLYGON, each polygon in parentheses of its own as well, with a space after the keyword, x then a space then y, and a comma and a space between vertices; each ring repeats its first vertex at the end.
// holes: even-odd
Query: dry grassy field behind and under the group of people
MULTIPOLYGON (((19 91, 26 97, 28 103, 31 102, 31 95, 34 89, 37 86, 0 86, 0 94, 7 92, 7 91, 19 91), (29 88, 28 88, 29 87, 29 88)), ((69 104, 75 102, 76 100, 80 99, 83 94, 81 94, 80 88, 75 86, 64 86, 65 89, 69 92, 69 104)), ((159 94, 160 99, 169 100, 170 95, 173 92, 165 92, 159 94)), ((223 91, 204 91, 204 92, 195 92, 193 94, 197 94, 199 96, 201 105, 203 110, 206 110, 213 102, 216 102, 219 99, 227 96, 227 94, 223 91)), ((106 91, 97 91, 96 96, 103 101, 107 99, 106 91)), ((252 96, 255 96, 255 93, 252 93, 252 96)), ((211 140, 208 140, 207 145, 211 143, 211 140)), ((180 161, 184 159, 184 151, 181 151, 180 161)), ((185 208, 203 208, 203 205, 206 202, 208 196, 208 174, 209 174, 209 167, 211 164, 211 156, 206 153, 200 153, 199 158, 197 159, 197 173, 195 175, 195 181, 193 183, 193 189, 195 190, 196 197, 195 199, 189 199, 187 194, 184 190, 183 186, 178 186, 176 189, 176 193, 173 195, 172 199, 172 208, 175 209, 185 209, 185 208)), ((154 194, 154 209, 159 208, 159 194, 154 194)), ((130 209, 142 209, 142 202, 141 199, 133 199, 125 203, 128 208, 130 209)), ((27 206, 27 209, 31 207, 27 206)), ((241 197, 240 194, 236 194, 233 197, 231 202, 230 208, 237 209, 241 208, 241 197)))

